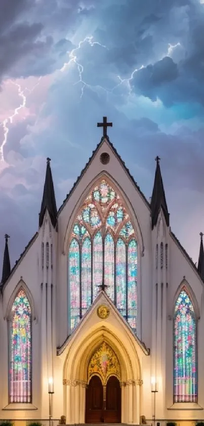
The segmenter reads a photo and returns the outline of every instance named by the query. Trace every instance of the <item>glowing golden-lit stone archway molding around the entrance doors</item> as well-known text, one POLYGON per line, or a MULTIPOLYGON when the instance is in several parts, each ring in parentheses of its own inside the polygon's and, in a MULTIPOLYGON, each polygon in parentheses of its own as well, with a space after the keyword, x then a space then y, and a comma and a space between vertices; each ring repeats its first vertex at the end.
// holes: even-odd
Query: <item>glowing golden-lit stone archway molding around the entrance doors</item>
POLYGON ((141 369, 135 346, 126 346, 105 326, 91 329, 86 337, 74 339, 65 358, 63 369, 64 404, 68 424, 85 423, 85 395, 89 381, 88 368, 93 354, 102 342, 116 354, 120 366, 121 422, 139 424, 141 369), (125 403, 126 401, 126 403, 125 403), (130 407, 127 407, 129 401, 130 407))

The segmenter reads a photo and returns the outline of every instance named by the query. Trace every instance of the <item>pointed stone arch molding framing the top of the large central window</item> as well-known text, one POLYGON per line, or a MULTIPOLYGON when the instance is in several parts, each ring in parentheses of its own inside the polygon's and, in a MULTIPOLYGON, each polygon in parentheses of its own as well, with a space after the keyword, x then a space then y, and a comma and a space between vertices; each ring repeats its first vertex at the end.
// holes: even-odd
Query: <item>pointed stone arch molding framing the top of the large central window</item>
POLYGON ((81 204, 83 204, 83 202, 86 200, 86 198, 89 195, 89 192, 92 190, 92 188, 94 186, 97 186, 97 184, 99 184, 102 179, 105 179, 109 183, 110 186, 115 188, 115 190, 118 193, 118 195, 120 196, 121 200, 124 201, 124 205, 127 207, 128 214, 130 216, 130 220, 132 222, 132 225, 134 227, 135 234, 136 234, 136 237, 137 237, 137 243, 138 243, 138 249, 139 249, 138 251, 140 252, 140 255, 143 256, 144 255, 144 242, 143 242, 141 227, 140 227, 137 215, 136 215, 134 208, 132 206, 132 203, 129 200, 127 194, 125 194, 123 188, 121 188, 121 186, 118 184, 118 182, 116 182, 114 180, 114 178, 109 173, 107 173, 105 171, 99 173, 99 175, 97 175, 90 182, 90 184, 85 188, 83 194, 81 194, 81 196, 79 197, 79 200, 77 201, 77 203, 73 207, 73 210, 72 210, 71 215, 69 217, 67 227, 66 227, 66 231, 65 231, 63 249, 62 249, 63 254, 65 255, 68 252, 71 230, 72 230, 72 227, 73 227, 75 217, 77 216, 78 212, 80 211, 81 204))

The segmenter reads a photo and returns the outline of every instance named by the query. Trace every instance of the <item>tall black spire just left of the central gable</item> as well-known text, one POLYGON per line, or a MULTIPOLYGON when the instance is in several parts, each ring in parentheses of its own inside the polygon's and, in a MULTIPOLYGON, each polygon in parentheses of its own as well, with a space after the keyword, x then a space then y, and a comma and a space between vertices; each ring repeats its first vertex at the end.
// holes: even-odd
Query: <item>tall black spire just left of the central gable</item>
POLYGON ((53 185, 52 172, 50 168, 50 158, 47 158, 47 169, 46 169, 46 179, 43 191, 43 200, 41 204, 41 209, 39 213, 39 226, 42 226, 43 219, 48 209, 52 225, 55 227, 57 224, 57 206, 55 200, 55 191, 53 185))

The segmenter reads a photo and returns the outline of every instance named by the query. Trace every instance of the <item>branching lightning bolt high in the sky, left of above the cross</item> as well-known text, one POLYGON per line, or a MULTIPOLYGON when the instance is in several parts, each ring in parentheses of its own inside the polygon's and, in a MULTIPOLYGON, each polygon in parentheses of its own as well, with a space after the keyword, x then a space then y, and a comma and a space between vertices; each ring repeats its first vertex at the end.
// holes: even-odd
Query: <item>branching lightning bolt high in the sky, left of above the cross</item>
MULTIPOLYGON (((79 79, 78 79, 78 81, 76 83, 74 83, 74 85, 76 85, 78 83, 81 83, 81 85, 82 85, 81 86, 80 98, 84 94, 85 87, 86 86, 87 87, 91 87, 91 86, 83 80, 84 65, 82 65, 81 63, 79 63, 77 61, 77 53, 76 52, 81 48, 81 46, 83 46, 84 43, 89 43, 91 47, 93 47, 94 45, 98 45, 98 46, 103 47, 104 49, 107 49, 107 47, 105 45, 103 45, 103 44, 101 44, 99 42, 94 42, 93 39, 94 39, 93 36, 87 36, 87 37, 85 37, 84 40, 81 40, 78 43, 77 47, 75 47, 74 49, 72 49, 70 52, 67 52, 68 55, 69 55, 69 61, 65 62, 64 65, 63 65, 63 67, 60 70, 61 72, 64 72, 66 70, 66 68, 70 65, 71 62, 74 62, 76 64, 76 67, 77 67, 77 70, 78 70, 79 79)), ((102 90, 106 90, 106 89, 104 89, 104 87, 101 87, 101 86, 98 86, 98 87, 100 87, 102 90)))

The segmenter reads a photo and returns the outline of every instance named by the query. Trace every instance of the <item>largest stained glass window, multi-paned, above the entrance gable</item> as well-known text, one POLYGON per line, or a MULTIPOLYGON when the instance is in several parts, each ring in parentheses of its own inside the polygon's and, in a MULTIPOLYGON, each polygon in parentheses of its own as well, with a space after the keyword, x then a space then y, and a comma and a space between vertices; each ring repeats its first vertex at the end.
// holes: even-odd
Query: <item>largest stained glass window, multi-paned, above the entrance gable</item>
POLYGON ((96 299, 100 285, 137 331, 137 239, 116 191, 102 180, 77 215, 68 253, 69 329, 96 299))

